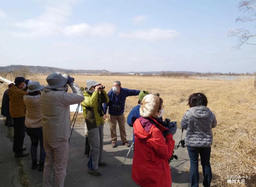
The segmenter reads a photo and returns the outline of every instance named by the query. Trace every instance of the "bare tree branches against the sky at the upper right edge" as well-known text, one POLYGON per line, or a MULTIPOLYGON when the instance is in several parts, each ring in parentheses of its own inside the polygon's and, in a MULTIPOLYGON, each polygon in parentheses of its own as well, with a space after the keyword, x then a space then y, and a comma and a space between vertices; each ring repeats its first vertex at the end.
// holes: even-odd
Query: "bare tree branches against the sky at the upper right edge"
MULTIPOLYGON (((256 0, 248 0, 248 1, 241 1, 238 5, 239 10, 244 11, 248 14, 248 16, 241 18, 236 18, 236 22, 253 22, 256 20, 256 0)), ((254 31, 255 32, 255 31, 254 31)), ((230 36, 235 36, 238 38, 238 44, 234 47, 240 49, 240 47, 246 43, 249 45, 256 45, 256 43, 251 43, 250 39, 256 36, 256 33, 252 31, 246 30, 244 28, 233 29, 229 31, 230 36)))

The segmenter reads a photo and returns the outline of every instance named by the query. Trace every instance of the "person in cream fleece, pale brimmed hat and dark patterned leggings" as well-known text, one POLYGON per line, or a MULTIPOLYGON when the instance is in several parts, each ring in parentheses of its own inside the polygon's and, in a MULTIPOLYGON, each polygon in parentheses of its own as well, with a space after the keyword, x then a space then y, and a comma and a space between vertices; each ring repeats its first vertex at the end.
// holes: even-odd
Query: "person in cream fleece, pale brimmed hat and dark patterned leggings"
POLYGON ((26 105, 26 119, 25 126, 27 127, 27 134, 30 136, 31 146, 30 154, 32 159, 31 169, 36 169, 39 165, 38 171, 44 170, 44 160, 46 153, 44 150, 43 130, 42 130, 42 114, 40 107, 41 86, 38 81, 28 83, 28 94, 24 95, 23 100, 26 105), (37 159, 37 147, 40 143, 40 160, 37 159))

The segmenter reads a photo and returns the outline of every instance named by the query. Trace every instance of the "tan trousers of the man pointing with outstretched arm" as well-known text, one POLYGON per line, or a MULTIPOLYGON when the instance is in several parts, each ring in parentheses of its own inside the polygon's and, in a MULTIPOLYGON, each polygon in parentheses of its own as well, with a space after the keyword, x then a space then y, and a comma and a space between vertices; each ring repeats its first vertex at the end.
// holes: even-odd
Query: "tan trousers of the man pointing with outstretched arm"
POLYGON ((120 116, 113 116, 108 114, 108 123, 110 126, 110 132, 111 132, 111 138, 112 142, 117 141, 117 135, 116 135, 116 121, 118 122, 119 131, 120 131, 120 137, 122 142, 126 142, 126 130, 124 126, 124 114, 120 116))

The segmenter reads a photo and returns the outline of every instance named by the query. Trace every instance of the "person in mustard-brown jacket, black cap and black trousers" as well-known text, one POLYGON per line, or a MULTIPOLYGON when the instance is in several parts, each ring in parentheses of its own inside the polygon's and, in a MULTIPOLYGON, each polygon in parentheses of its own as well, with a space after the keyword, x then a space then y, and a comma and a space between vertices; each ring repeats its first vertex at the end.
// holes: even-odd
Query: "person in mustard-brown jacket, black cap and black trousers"
POLYGON ((24 152, 26 147, 23 147, 23 141, 25 137, 25 116, 26 106, 23 101, 23 96, 28 94, 24 91, 26 88, 26 82, 29 80, 24 77, 16 77, 14 85, 9 88, 8 95, 10 98, 10 116, 13 118, 14 124, 14 138, 13 148, 15 157, 28 156, 29 152, 24 152))

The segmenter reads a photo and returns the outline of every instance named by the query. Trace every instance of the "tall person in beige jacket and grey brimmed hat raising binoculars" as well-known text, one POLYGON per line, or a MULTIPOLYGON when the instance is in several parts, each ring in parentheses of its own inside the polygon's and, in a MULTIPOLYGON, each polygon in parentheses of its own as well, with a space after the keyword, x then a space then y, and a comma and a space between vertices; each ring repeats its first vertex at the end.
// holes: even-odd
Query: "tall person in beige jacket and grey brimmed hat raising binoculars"
POLYGON ((47 78, 48 85, 41 94, 42 128, 46 162, 43 187, 52 186, 53 169, 56 187, 63 187, 68 164, 68 139, 70 138, 70 105, 84 100, 74 79, 60 72, 47 78), (68 85, 73 93, 67 93, 68 85))

